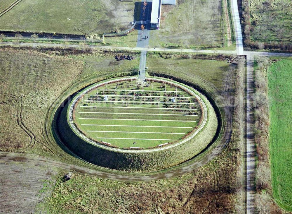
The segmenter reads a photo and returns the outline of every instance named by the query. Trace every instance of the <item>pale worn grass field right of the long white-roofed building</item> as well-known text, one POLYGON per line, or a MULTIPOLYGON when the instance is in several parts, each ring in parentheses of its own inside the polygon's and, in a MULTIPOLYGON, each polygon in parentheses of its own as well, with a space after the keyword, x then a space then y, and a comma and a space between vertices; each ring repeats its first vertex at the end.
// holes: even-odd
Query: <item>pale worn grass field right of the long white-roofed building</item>
POLYGON ((151 31, 150 47, 222 47, 224 23, 219 0, 180 0, 164 5, 160 30, 151 31))

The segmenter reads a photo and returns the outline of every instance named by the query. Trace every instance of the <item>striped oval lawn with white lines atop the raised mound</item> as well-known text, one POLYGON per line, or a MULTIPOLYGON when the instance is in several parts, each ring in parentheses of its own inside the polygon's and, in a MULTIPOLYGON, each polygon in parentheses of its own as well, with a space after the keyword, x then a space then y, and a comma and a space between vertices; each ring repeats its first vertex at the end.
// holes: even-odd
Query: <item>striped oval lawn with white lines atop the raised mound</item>
POLYGON ((149 148, 182 139, 198 125, 200 111, 196 98, 180 88, 151 82, 138 89, 135 82, 128 81, 86 94, 75 109, 75 122, 96 141, 120 148, 149 148), (103 99, 105 95, 108 101, 103 99), (196 115, 186 115, 190 112, 196 115))

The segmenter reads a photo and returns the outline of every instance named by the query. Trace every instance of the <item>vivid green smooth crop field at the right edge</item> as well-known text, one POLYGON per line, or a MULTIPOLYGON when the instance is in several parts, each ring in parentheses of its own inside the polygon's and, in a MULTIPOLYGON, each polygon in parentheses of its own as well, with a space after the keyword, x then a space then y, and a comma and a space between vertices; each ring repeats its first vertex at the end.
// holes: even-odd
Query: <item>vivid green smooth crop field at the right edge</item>
POLYGON ((292 211, 292 59, 268 69, 270 97, 270 156, 274 198, 292 211))

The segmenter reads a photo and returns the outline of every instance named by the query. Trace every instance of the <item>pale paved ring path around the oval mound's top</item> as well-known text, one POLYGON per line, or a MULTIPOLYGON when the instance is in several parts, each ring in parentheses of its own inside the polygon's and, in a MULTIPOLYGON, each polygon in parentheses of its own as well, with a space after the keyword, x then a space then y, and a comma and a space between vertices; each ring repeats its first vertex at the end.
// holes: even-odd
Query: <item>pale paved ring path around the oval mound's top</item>
MULTIPOLYGON (((160 147, 160 148, 156 148, 156 149, 143 149, 143 150, 126 150, 126 149, 119 149, 119 148, 113 148, 113 147, 109 147, 109 146, 106 146, 106 145, 102 145, 102 144, 99 144, 99 143, 96 143, 95 141, 87 138, 84 134, 80 133, 79 129, 77 129, 76 126, 74 126, 74 121, 73 121, 73 112, 74 112, 74 107, 76 105, 76 103, 78 102, 78 100, 84 95, 86 94, 88 91, 91 91, 92 89, 100 86, 100 85, 104 85, 105 83, 111 83, 112 81, 124 81, 124 80, 137 80, 137 77, 133 77, 133 78, 120 78, 120 79, 114 79, 114 80, 110 80, 110 81, 107 81, 107 82, 102 82, 102 83, 99 83, 99 84, 95 84, 93 86, 91 86, 90 88, 86 89, 85 91, 83 91, 81 94, 79 94, 77 97, 74 98, 74 100, 72 101, 72 104, 70 104, 70 109, 69 109, 69 112, 68 112, 68 118, 69 118, 69 125, 70 127, 73 129, 73 131, 75 132, 75 134, 77 134, 80 138, 82 138, 83 140, 89 142, 89 143, 92 143, 100 148, 103 148, 103 149, 107 149, 107 150, 111 150, 111 151, 116 151, 116 152, 122 152, 122 153, 149 153, 149 152, 157 152, 157 151, 161 151, 161 150, 166 150, 166 149, 170 149, 170 148, 173 148, 175 146, 178 146, 178 145, 181 145, 187 141, 189 141, 190 139, 192 139, 194 136, 196 136, 206 125, 207 123, 207 119, 208 119, 208 110, 207 110, 207 106, 206 104, 202 101, 201 97, 199 95, 197 95, 196 93, 194 93, 193 90, 190 90, 189 88, 185 87, 184 85, 180 85, 180 88, 182 88, 183 90, 187 91, 188 93, 194 95, 197 100, 199 100, 199 103, 202 105, 203 107, 203 115, 204 115, 204 118, 202 120, 202 123, 201 125, 199 126, 199 128, 191 135, 189 136, 188 138, 184 139, 183 141, 180 141, 179 143, 174 143, 174 144, 171 144, 169 146, 164 146, 164 147, 160 147)), ((161 80, 165 83, 168 83, 168 84, 173 84, 174 82, 172 81, 168 81, 168 80, 164 80, 164 79, 158 79, 158 78, 146 78, 147 80, 161 80)))

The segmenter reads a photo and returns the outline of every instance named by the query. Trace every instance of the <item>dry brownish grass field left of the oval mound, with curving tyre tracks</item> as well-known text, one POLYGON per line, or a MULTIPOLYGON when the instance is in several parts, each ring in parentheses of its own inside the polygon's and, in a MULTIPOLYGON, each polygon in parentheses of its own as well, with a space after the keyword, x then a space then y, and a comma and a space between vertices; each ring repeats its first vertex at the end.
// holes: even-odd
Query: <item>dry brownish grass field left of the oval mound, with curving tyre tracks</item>
POLYGON ((117 64, 113 55, 105 55, 95 52, 91 56, 79 54, 69 58, 2 49, 0 71, 6 78, 0 81, 1 150, 34 150, 36 147, 36 153, 49 152, 42 124, 46 110, 64 90, 75 83, 86 86, 90 79, 137 69, 137 59, 117 64))

